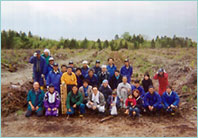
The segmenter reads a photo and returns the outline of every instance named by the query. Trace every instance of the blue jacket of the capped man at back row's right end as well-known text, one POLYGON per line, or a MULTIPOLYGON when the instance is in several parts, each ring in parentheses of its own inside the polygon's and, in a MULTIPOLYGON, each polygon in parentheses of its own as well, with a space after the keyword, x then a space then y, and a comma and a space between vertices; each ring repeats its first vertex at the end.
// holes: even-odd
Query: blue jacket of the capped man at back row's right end
POLYGON ((129 66, 128 69, 127 69, 127 67, 125 65, 122 66, 122 68, 120 69, 120 74, 122 76, 127 76, 127 82, 130 83, 131 82, 131 76, 133 74, 133 67, 129 66))

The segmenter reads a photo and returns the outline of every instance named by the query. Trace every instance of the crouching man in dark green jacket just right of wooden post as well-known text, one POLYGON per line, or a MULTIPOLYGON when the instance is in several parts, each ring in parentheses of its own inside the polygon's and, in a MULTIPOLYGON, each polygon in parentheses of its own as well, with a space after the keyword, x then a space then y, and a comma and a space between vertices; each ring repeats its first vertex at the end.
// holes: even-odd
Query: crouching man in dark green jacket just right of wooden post
POLYGON ((85 105, 83 104, 82 93, 78 91, 77 85, 74 85, 72 91, 67 95, 66 106, 68 117, 73 115, 76 110, 80 110, 80 117, 83 117, 85 105))

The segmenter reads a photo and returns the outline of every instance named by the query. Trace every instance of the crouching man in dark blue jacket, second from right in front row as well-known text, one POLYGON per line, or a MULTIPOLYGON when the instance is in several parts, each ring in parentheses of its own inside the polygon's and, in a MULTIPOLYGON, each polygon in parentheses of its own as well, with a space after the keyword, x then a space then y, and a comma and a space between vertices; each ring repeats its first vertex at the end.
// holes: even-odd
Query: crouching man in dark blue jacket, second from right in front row
POLYGON ((162 108, 161 97, 153 86, 149 86, 149 92, 144 96, 144 107, 148 114, 157 113, 162 108))

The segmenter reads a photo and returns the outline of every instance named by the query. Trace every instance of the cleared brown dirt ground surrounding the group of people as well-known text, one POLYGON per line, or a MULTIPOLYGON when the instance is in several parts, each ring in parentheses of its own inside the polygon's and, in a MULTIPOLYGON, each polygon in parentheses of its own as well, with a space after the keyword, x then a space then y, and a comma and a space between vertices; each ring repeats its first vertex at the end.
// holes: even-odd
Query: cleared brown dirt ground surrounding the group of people
MULTIPOLYGON (((1 118, 1 134, 3 137, 196 137, 197 136, 197 68, 196 68, 196 50, 190 49, 185 53, 186 49, 153 49, 127 51, 120 50, 118 52, 110 52, 108 50, 86 51, 82 54, 69 56, 66 59, 57 58, 59 64, 68 63, 73 60, 80 63, 82 59, 88 59, 94 64, 95 59, 100 59, 103 64, 106 63, 107 57, 114 57, 118 68, 123 64, 124 58, 129 57, 133 62, 134 74, 138 73, 141 78, 142 68, 145 62, 151 64, 152 72, 155 72, 159 66, 163 65, 169 74, 169 82, 174 86, 181 97, 179 115, 170 116, 141 116, 135 120, 120 115, 106 122, 100 123, 101 117, 98 115, 90 115, 88 112, 83 119, 74 117, 66 119, 65 116, 41 117, 35 116, 25 118, 25 110, 27 105, 19 106, 19 109, 13 113, 2 113, 1 118), (189 54, 190 53, 190 54, 189 54), (138 58, 138 57, 141 57, 138 58), (135 61, 138 61, 135 63, 135 61), (194 61, 195 65, 192 65, 194 61), (192 80, 192 81, 190 81, 192 80), (196 82, 195 82, 196 81, 196 82), (183 86, 188 89, 184 91, 183 86)), ((149 65, 148 65, 149 66, 149 65)), ((7 96, 15 94, 10 88, 12 84, 23 84, 31 80, 32 66, 29 65, 17 72, 8 72, 2 70, 1 73, 1 99, 5 101, 7 96)), ((153 74, 151 74, 153 75, 153 74)), ((134 79, 134 78, 133 78, 134 79)), ((158 87, 158 82, 154 81, 154 86, 158 87)), ((26 85, 26 84, 25 84, 26 85)), ((17 91, 22 93, 21 91, 17 91)), ((23 96, 26 89, 23 90, 23 96)), ((15 100, 15 99, 12 99, 15 100)), ((24 99, 25 100, 25 99, 24 99)), ((16 101, 14 101, 16 102, 16 101)), ((2 111, 11 110, 11 107, 2 104, 2 111)))

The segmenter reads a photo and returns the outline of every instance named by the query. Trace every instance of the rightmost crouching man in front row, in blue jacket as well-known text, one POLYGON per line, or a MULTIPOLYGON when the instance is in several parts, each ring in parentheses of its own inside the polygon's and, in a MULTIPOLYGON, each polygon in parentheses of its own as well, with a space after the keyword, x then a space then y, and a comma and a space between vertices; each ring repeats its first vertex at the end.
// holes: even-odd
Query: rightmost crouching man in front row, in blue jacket
POLYGON ((172 90, 171 86, 167 86, 166 92, 163 93, 162 103, 167 113, 175 115, 175 111, 179 106, 179 96, 172 90))

